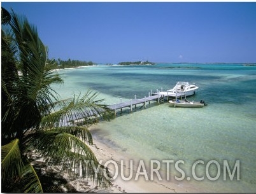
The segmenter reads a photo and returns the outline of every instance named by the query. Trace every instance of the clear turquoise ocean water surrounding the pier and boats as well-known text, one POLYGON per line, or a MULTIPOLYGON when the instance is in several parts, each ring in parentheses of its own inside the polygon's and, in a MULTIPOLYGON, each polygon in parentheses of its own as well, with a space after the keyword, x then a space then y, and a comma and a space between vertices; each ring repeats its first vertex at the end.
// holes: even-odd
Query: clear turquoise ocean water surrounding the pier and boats
MULTIPOLYGON (((192 184, 204 191, 256 191, 256 67, 243 64, 156 64, 155 66, 104 66, 64 69, 61 87, 55 87, 63 97, 99 92, 105 104, 113 104, 148 96, 150 90, 166 91, 177 81, 196 83, 199 90, 190 100, 203 99, 203 108, 170 107, 164 103, 147 104, 147 108, 124 109, 122 116, 94 128, 101 141, 134 158, 143 160, 183 160, 180 168, 185 177, 191 175, 196 160, 197 176, 203 181, 187 178, 180 184, 192 184), (210 160, 220 163, 220 177, 209 181, 205 174, 210 160), (239 178, 223 180, 223 161, 229 166, 239 160, 239 178)), ((174 164, 173 164, 174 167, 174 164)), ((174 169, 174 168, 173 168, 174 169)), ((171 171, 178 177, 180 172, 171 171)), ((217 166, 210 167, 211 177, 217 176, 217 166)))

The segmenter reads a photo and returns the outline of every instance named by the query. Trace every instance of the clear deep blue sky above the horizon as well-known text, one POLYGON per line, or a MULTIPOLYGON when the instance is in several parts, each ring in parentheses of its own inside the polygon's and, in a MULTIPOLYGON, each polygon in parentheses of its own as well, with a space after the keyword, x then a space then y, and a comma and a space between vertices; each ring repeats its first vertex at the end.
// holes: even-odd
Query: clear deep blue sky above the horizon
POLYGON ((49 58, 98 63, 256 62, 256 3, 2 2, 49 58))

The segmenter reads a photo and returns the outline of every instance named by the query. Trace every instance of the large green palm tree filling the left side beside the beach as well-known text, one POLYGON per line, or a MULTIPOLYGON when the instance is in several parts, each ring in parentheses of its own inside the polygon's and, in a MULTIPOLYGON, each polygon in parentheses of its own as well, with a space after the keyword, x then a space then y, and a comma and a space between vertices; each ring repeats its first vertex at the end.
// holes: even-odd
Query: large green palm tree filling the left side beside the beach
POLYGON ((54 64, 46 66, 46 47, 36 27, 3 10, 2 21, 8 25, 2 26, 1 37, 2 191, 43 191, 30 151, 48 167, 58 165, 63 172, 109 186, 111 174, 87 145, 92 135, 86 126, 97 121, 96 115, 110 119, 110 109, 92 91, 59 100, 51 85, 62 79, 50 70, 54 64), (76 118, 86 118, 85 125, 76 126, 76 118))

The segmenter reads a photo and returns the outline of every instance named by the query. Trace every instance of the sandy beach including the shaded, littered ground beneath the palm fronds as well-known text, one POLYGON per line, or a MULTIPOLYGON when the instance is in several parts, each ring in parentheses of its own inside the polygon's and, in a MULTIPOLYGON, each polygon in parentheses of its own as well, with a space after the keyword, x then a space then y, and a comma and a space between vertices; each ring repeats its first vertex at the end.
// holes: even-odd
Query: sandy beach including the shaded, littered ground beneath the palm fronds
MULTIPOLYGON (((113 186, 109 188, 99 188, 92 181, 83 177, 70 176, 69 174, 60 171, 58 166, 47 168, 47 163, 36 153, 31 153, 31 158, 34 160, 32 165, 34 168, 38 168, 41 171, 41 177, 45 180, 51 180, 51 185, 45 183, 46 187, 55 187, 57 192, 97 192, 97 193, 201 193, 206 192, 201 188, 188 184, 183 181, 176 181, 171 178, 170 181, 164 179, 163 173, 160 172, 162 181, 159 181, 157 177, 153 177, 150 180, 150 170, 145 161, 145 170, 149 180, 145 179, 143 175, 143 168, 139 167, 138 158, 129 155, 125 149, 118 148, 117 145, 113 146, 106 143, 105 139, 97 136, 101 131, 97 129, 97 125, 89 127, 92 134, 94 143, 88 145, 94 152, 98 161, 102 160, 101 164, 105 165, 109 162, 107 167, 111 170, 113 176, 117 174, 113 181, 113 186), (132 164, 129 163, 132 160, 132 164), (124 162, 124 166, 121 166, 121 162, 124 162), (116 166, 113 163, 117 164, 116 166), (118 170, 116 170, 118 169, 118 170), (120 174, 120 170, 124 169, 124 177, 128 178, 132 174, 131 179, 125 181, 120 174), (132 169, 132 170, 131 170, 132 169), (138 173, 139 169, 139 173, 138 173), (141 174, 142 173, 142 174, 141 174), (54 175, 53 175, 54 174, 54 175), (140 175, 139 175, 140 174, 140 175), (135 177, 135 178, 134 178, 135 177), (138 179, 136 179, 138 177, 138 179)), ((105 165, 106 166, 106 165, 105 165)), ((165 172, 166 173, 166 172, 165 172)), ((50 190, 52 192, 52 189, 50 190)))

